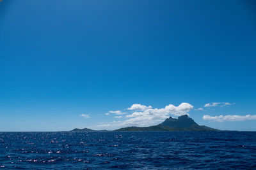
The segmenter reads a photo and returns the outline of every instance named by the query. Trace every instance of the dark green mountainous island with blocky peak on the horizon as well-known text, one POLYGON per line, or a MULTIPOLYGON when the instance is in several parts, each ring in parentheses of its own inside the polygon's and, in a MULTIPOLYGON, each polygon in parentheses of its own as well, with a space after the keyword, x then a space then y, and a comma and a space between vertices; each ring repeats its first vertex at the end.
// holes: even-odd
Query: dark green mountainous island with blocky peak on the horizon
MULTIPOLYGON (((101 130, 100 132, 108 132, 106 130, 101 130)), ((211 127, 207 127, 205 125, 198 125, 196 122, 189 118, 188 115, 182 115, 179 118, 166 118, 164 122, 159 125, 153 125, 149 127, 123 127, 120 129, 116 129, 114 131, 117 132, 150 132, 150 131, 168 131, 168 132, 176 132, 176 131, 220 131, 218 129, 213 129, 211 127)), ((73 129, 72 132, 99 132, 92 129, 84 128, 84 129, 73 129)))

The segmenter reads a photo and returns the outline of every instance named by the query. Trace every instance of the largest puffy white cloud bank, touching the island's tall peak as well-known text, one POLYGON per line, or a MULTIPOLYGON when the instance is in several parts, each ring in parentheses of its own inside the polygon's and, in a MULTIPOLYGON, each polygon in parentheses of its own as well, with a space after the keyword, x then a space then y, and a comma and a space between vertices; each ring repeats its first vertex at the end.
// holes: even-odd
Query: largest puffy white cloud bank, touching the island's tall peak
POLYGON ((149 125, 157 125, 163 122, 166 118, 171 115, 178 117, 180 115, 189 115, 189 111, 193 109, 193 106, 189 103, 181 103, 179 106, 174 106, 173 104, 169 104, 164 108, 152 108, 152 106, 143 105, 132 105, 130 110, 134 110, 133 113, 126 115, 126 119, 124 121, 119 122, 111 122, 107 124, 100 124, 98 127, 111 127, 111 128, 119 128, 119 127, 127 127, 127 126, 149 126, 149 125), (134 107, 132 107, 134 106, 134 107), (138 107, 140 106, 140 107, 138 107), (140 110, 139 110, 140 108, 140 110))

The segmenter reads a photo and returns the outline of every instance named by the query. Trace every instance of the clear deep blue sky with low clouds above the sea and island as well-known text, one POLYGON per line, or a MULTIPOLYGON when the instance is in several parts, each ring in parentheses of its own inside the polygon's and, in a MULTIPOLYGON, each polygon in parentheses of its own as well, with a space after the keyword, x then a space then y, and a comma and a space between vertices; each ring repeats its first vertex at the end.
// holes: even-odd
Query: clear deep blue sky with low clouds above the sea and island
POLYGON ((3 0, 0 131, 256 131, 255 1, 3 0))

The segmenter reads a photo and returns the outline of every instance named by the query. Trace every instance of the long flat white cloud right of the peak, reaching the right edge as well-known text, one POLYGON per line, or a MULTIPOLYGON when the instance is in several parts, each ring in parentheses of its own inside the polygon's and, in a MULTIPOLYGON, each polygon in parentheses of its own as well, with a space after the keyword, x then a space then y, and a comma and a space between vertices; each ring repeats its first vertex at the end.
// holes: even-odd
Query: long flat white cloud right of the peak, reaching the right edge
POLYGON ((243 121, 243 120, 256 120, 256 115, 220 115, 220 116, 215 116, 211 117, 209 115, 204 115, 203 117, 204 120, 209 120, 210 122, 225 122, 225 121, 243 121))

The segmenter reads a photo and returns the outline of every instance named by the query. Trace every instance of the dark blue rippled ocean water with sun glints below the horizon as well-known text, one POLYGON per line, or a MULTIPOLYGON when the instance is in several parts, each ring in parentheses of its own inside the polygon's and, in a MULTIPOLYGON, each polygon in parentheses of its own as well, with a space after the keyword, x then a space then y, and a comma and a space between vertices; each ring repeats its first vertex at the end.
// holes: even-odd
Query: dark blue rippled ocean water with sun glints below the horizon
POLYGON ((256 132, 0 132, 0 169, 256 169, 256 132))

